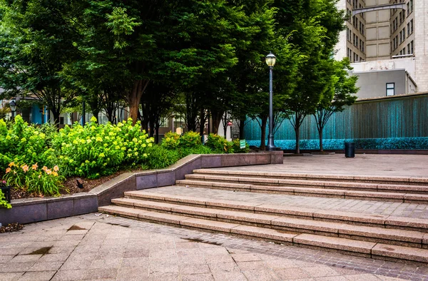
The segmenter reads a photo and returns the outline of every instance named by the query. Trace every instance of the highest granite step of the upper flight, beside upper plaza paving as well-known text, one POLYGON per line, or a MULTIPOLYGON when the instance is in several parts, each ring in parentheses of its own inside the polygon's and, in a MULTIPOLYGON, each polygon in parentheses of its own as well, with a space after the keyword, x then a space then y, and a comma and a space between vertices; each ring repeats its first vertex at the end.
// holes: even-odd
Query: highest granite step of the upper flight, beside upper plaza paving
POLYGON ((195 174, 222 175, 228 177, 252 177, 252 178, 277 178, 295 180, 326 180, 326 181, 348 181, 352 183, 379 183, 392 185, 428 185, 427 178, 400 177, 400 176, 371 176, 371 175, 337 175, 317 173, 275 173, 249 170, 228 169, 198 169, 193 170, 195 174))

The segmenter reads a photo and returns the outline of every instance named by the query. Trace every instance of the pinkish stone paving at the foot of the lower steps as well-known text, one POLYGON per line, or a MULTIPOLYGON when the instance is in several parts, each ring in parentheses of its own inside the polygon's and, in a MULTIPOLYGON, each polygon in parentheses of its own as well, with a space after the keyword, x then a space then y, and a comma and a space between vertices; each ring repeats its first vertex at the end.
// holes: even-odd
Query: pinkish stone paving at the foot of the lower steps
POLYGON ((88 214, 1 234, 0 280, 428 280, 428 267, 88 214))

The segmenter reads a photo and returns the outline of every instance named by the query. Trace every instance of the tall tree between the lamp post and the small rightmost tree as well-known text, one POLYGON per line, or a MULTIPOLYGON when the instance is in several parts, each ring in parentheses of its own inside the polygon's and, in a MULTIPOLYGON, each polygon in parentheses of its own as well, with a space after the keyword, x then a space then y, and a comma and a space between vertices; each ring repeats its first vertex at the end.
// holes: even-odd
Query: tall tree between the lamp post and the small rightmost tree
POLYGON ((332 53, 339 32, 344 28, 344 11, 338 11, 335 0, 275 1, 276 20, 282 34, 302 56, 295 91, 285 102, 292 111, 289 120, 296 134, 296 153, 300 153, 300 126, 307 115, 315 113, 327 91, 332 73, 332 53))

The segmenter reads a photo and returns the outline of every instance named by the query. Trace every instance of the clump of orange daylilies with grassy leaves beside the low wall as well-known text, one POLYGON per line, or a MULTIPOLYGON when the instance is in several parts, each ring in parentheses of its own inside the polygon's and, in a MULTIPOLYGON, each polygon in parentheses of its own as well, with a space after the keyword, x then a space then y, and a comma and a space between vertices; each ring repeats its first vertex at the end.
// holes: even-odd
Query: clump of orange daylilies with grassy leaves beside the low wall
POLYGON ((6 169, 4 180, 11 187, 25 188, 29 193, 42 195, 60 195, 59 190, 63 188, 61 184, 65 178, 58 174, 58 166, 54 168, 39 168, 39 165, 9 163, 9 168, 6 169))

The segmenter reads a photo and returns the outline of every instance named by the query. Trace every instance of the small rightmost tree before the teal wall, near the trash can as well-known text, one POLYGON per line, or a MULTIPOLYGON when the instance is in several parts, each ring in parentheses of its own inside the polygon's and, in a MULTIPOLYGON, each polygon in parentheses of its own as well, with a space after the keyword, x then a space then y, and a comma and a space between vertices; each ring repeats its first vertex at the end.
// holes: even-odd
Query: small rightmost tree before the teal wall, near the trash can
POLYGON ((355 86, 358 76, 349 76, 348 74, 348 71, 352 70, 348 58, 344 58, 342 61, 334 61, 333 67, 335 72, 329 85, 329 91, 327 91, 331 94, 323 96, 314 114, 320 136, 321 152, 324 151, 322 148, 322 131, 325 125, 334 113, 342 112, 345 110, 345 106, 352 106, 355 103, 357 96, 354 93, 357 93, 359 90, 355 86))

